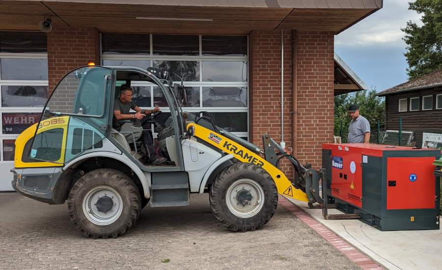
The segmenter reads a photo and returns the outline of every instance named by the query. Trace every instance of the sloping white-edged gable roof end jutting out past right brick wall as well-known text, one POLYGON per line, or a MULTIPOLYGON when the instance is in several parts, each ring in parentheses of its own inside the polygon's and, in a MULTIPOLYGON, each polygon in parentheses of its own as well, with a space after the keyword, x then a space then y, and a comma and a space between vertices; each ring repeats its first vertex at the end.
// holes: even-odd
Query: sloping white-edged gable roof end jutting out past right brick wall
POLYGON ((334 96, 367 90, 361 78, 334 53, 334 96))

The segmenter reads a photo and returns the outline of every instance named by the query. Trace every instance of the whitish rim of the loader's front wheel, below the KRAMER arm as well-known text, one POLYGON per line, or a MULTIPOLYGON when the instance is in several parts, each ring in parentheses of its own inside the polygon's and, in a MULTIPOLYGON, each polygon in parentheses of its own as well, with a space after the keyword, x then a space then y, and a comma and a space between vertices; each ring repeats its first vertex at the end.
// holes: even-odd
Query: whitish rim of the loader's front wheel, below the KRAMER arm
POLYGON ((250 218, 263 207, 264 191, 251 179, 239 179, 227 188, 225 201, 232 214, 240 218, 250 218))

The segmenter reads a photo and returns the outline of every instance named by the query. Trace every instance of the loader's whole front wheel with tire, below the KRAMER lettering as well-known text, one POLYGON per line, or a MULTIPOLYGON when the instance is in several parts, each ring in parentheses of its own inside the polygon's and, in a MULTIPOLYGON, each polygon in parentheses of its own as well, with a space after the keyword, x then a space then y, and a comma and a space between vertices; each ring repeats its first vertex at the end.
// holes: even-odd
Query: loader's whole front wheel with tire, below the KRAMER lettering
POLYGON ((272 177, 251 163, 234 163, 218 174, 209 192, 212 213, 232 231, 254 231, 273 217, 278 193, 272 177))

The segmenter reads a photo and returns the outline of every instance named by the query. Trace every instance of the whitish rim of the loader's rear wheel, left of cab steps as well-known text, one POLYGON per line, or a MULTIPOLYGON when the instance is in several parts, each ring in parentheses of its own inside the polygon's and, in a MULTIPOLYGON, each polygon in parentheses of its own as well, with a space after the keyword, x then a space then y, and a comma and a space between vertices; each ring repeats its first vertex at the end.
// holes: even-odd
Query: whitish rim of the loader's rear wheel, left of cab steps
POLYGON ((111 187, 91 189, 83 198, 83 213, 87 220, 100 226, 112 224, 123 212, 123 200, 111 187))

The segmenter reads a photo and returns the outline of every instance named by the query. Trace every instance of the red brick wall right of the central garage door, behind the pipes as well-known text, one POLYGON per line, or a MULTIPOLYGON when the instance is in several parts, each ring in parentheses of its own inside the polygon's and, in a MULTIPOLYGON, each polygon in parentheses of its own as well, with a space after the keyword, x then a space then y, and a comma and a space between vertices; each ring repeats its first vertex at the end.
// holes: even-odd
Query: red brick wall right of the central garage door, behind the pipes
MULTIPOLYGON (((284 30, 284 141, 292 147, 292 32, 284 30)), ((333 138, 333 33, 298 32, 298 152, 302 164, 320 168, 324 142, 333 138)), ((250 34, 250 140, 281 141, 281 31, 250 34)), ((290 175, 291 166, 281 165, 290 175)))

